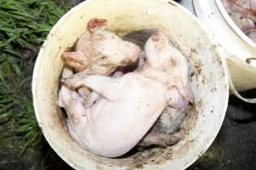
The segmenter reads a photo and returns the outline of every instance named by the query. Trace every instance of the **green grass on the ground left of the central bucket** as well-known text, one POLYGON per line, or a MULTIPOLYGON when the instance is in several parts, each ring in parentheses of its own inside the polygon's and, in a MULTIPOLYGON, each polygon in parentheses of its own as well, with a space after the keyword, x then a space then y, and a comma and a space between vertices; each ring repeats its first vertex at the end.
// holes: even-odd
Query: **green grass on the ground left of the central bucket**
POLYGON ((63 2, 0 0, 0 160, 4 150, 22 157, 45 143, 32 106, 32 68, 51 27, 73 4, 63 2))

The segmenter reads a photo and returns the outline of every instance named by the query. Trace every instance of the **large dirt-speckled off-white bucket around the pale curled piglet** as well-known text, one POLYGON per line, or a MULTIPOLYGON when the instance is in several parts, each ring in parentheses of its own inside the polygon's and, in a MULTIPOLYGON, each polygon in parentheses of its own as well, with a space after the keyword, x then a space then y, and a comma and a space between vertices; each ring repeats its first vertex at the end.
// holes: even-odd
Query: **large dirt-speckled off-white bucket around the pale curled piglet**
MULTIPOLYGON (((32 94, 38 125, 55 152, 76 169, 184 169, 212 144, 224 120, 229 84, 218 45, 199 21, 177 3, 165 0, 88 0, 65 14, 50 31, 38 54, 32 94), (119 159, 84 150, 67 131, 57 105, 61 54, 73 46, 91 18, 108 20, 108 30, 129 33, 162 27, 189 59, 195 108, 177 133, 181 140, 166 149, 152 149, 119 159)), ((136 130, 136 127, 131 130, 136 130)))

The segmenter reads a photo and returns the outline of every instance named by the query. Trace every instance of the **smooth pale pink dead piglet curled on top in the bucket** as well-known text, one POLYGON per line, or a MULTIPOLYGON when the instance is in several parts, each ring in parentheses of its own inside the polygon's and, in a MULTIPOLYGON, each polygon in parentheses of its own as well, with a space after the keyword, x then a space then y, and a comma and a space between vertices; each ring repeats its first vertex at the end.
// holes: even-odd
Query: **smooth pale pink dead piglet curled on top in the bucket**
POLYGON ((70 133, 97 155, 124 155, 143 139, 166 106, 183 110, 188 103, 186 59, 162 30, 148 39, 145 51, 146 65, 122 77, 78 73, 61 80, 69 88, 85 86, 102 95, 95 105, 68 116, 81 117, 69 123, 70 133))

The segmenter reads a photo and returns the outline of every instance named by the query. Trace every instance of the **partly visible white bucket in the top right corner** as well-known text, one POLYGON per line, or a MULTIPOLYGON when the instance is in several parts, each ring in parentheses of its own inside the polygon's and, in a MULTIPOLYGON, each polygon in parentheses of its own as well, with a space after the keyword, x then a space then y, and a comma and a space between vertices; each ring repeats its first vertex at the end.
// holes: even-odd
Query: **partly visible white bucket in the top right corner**
MULTIPOLYGON (((224 47, 223 57, 230 71, 230 90, 243 99, 237 92, 256 88, 256 43, 247 37, 224 9, 221 0, 193 0, 195 14, 214 34, 218 43, 224 47), (232 84, 234 83, 234 86, 232 84)), ((243 99, 255 102, 255 99, 243 99)))

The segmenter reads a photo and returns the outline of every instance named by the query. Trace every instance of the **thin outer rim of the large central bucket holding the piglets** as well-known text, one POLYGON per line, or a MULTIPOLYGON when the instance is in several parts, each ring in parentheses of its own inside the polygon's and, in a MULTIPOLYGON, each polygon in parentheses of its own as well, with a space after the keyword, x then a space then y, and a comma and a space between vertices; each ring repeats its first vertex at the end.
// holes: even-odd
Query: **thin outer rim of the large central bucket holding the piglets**
MULTIPOLYGON (((79 3, 78 5, 76 5, 75 7, 71 8, 66 14, 64 14, 60 20, 58 20, 55 23, 55 26, 52 27, 51 31, 49 31, 49 35, 53 35, 55 34, 55 31, 57 31, 57 29, 62 25, 63 22, 65 22, 65 20, 67 19, 68 16, 72 15, 73 13, 75 13, 79 8, 83 8, 84 5, 91 3, 91 2, 96 2, 97 0, 87 0, 84 1, 83 3, 79 3)), ((113 0, 114 1, 114 0, 113 0)), ((158 1, 158 0, 151 0, 151 1, 158 1)), ((218 47, 218 43, 215 41, 215 39, 213 38, 212 34, 210 33, 210 31, 207 30, 207 27, 204 26, 200 20, 198 20, 194 14, 192 14, 191 12, 189 12, 189 10, 187 8, 184 8, 182 5, 172 1, 172 0, 161 0, 162 2, 166 2, 166 3, 172 3, 173 6, 177 7, 179 10, 181 10, 183 12, 183 14, 186 14, 188 17, 191 18, 191 20, 193 20, 201 29, 202 31, 206 32, 207 36, 209 37, 209 41, 212 42, 212 44, 216 44, 216 47, 218 47)), ((47 46, 48 44, 48 37, 45 39, 42 47, 40 48, 40 51, 38 53, 38 57, 36 59, 36 63, 33 69, 33 75, 32 75, 32 99, 33 99, 33 107, 34 107, 34 111, 35 111, 35 115, 38 121, 38 126, 40 127, 42 133, 44 134, 44 138, 47 140, 47 142, 49 143, 50 147, 55 150, 55 152, 61 157, 61 159, 63 161, 66 161, 68 165, 70 165, 73 168, 79 168, 78 165, 76 165, 75 163, 73 163, 72 161, 69 161, 69 159, 62 153, 63 151, 58 150, 55 148, 55 144, 53 143, 53 139, 49 138, 49 134, 44 131, 44 127, 42 126, 42 120, 41 120, 41 116, 39 114, 39 109, 38 109, 38 100, 36 98, 36 94, 37 94, 37 79, 38 79, 38 72, 40 71, 40 68, 42 67, 41 62, 43 59, 43 54, 44 54, 44 47, 47 46)), ((223 59, 221 57, 221 52, 218 51, 218 48, 216 48, 217 53, 218 53, 218 58, 219 59, 223 59)), ((225 112, 228 106, 228 100, 229 100, 229 80, 227 77, 227 68, 224 64, 220 65, 220 67, 224 70, 224 82, 225 84, 227 84, 226 88, 225 88, 225 94, 224 94, 224 103, 222 104, 222 109, 223 109, 223 113, 220 117, 220 121, 221 123, 219 123, 218 128, 216 127, 216 129, 214 130, 214 133, 212 133, 212 139, 209 140, 209 142, 207 144, 205 144, 203 147, 203 149, 201 150, 201 153, 199 153, 197 156, 191 156, 189 161, 184 161, 186 164, 183 165, 183 168, 187 168, 189 167, 192 163, 194 163, 208 148, 209 146, 212 144, 213 140, 216 138, 218 131, 220 130, 220 127, 222 126, 222 122, 224 121, 224 116, 225 116, 225 112), (218 129, 218 130, 217 130, 218 129)))

